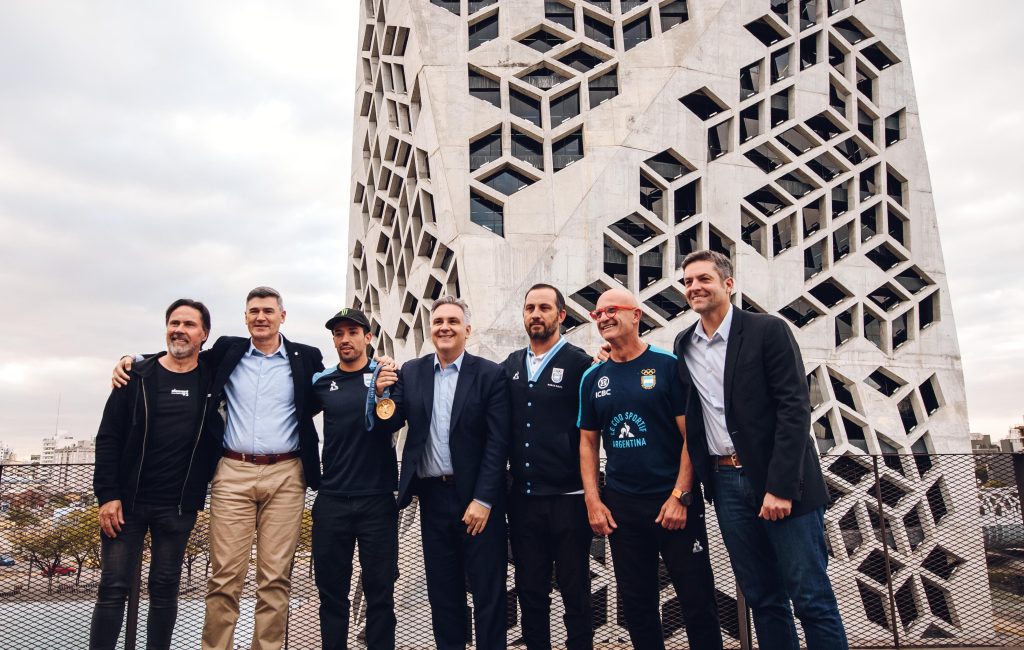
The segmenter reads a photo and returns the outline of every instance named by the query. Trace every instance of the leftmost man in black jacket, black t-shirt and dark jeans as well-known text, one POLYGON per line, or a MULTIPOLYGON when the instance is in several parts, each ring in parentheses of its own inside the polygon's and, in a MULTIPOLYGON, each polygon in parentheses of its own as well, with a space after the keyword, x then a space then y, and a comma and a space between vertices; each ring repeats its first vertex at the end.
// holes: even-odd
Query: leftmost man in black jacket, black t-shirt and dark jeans
POLYGON ((128 386, 108 398, 96 434, 92 483, 102 572, 89 633, 96 650, 117 643, 146 530, 153 539, 146 647, 170 647, 181 559, 220 458, 223 422, 209 394, 211 369, 199 358, 210 311, 181 298, 165 320, 169 353, 135 365, 128 386))

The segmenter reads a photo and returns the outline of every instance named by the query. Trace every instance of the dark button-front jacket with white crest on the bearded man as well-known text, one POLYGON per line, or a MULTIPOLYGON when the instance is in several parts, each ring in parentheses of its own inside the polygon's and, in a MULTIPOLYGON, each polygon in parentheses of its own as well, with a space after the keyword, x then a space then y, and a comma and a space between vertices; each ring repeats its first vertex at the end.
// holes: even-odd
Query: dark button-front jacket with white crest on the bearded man
POLYGON ((512 489, 521 494, 566 494, 583 489, 580 478, 580 379, 591 356, 562 341, 531 377, 528 348, 516 350, 502 367, 509 380, 512 489))

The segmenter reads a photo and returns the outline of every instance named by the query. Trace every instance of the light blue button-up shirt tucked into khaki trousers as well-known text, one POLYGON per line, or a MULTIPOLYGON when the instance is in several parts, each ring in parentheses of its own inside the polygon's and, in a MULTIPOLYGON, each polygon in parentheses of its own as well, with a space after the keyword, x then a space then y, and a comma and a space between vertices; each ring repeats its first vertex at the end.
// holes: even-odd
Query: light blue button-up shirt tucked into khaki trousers
POLYGON ((271 354, 263 354, 250 341, 225 392, 225 448, 239 453, 287 453, 299 448, 295 384, 283 341, 271 354))

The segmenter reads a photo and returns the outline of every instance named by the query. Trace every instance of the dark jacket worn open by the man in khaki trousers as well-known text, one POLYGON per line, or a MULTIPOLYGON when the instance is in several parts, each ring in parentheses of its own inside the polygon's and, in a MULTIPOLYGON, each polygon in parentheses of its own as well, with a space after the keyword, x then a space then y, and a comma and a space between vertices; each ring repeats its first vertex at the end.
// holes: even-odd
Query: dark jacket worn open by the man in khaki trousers
MULTIPOLYGON (((310 489, 319 487, 319 447, 316 428, 313 426, 315 409, 312 399, 313 375, 324 370, 324 356, 319 349, 301 343, 293 343, 282 335, 285 352, 292 364, 292 382, 295 384, 295 417, 299 423, 299 454, 306 485, 310 489)), ((249 349, 250 340, 243 337, 220 337, 209 350, 203 352, 203 359, 214 365, 211 392, 219 402, 226 399, 224 387, 234 372, 242 356, 249 349)))

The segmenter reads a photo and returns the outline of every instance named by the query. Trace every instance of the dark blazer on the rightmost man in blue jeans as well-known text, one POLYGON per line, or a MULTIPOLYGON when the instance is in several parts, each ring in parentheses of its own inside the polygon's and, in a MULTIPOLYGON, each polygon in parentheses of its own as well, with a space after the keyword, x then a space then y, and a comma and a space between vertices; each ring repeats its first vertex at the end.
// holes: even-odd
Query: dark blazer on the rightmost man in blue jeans
MULTIPOLYGON (((693 469, 714 500, 703 410, 686 366, 696 323, 676 337, 679 376, 687 386, 686 432, 693 469)), ((828 502, 810 437, 811 406, 800 348, 784 320, 733 308, 725 353, 725 421, 759 503, 765 492, 793 500, 802 515, 828 502)))

